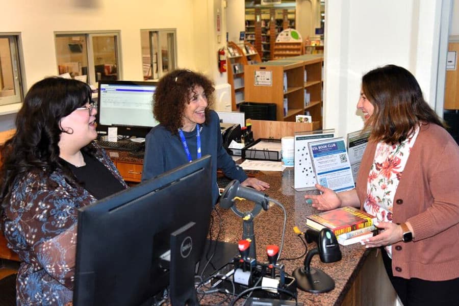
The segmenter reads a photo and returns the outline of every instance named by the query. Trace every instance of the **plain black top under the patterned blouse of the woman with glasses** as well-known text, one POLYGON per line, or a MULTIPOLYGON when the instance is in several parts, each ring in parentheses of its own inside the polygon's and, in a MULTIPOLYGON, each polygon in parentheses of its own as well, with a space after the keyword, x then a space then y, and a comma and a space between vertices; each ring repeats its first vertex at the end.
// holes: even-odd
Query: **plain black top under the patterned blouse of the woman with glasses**
POLYGON ((124 190, 124 186, 103 163, 86 153, 83 153, 83 157, 86 163, 85 166, 75 167, 70 163, 67 163, 67 165, 78 181, 83 184, 83 187, 96 199, 100 200, 124 190))

